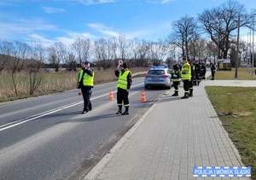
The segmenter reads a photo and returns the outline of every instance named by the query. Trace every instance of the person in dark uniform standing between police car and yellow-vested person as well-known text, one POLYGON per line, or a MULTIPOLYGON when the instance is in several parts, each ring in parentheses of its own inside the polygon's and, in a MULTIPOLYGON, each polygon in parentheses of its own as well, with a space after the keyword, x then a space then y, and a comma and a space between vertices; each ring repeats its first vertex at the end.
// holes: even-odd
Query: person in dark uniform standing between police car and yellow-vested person
POLYGON ((172 96, 178 96, 178 84, 180 80, 180 67, 178 65, 178 61, 174 60, 172 67, 172 84, 174 87, 174 94, 172 96))

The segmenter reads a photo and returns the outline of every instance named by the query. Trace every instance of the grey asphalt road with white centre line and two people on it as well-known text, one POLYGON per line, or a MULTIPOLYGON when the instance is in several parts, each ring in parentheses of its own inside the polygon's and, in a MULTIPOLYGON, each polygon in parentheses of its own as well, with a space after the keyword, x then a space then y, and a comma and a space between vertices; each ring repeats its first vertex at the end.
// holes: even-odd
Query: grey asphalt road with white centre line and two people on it
POLYGON ((145 90, 141 102, 143 78, 134 78, 130 114, 116 115, 115 84, 95 86, 86 114, 79 90, 0 104, 0 179, 83 177, 166 92, 145 90))

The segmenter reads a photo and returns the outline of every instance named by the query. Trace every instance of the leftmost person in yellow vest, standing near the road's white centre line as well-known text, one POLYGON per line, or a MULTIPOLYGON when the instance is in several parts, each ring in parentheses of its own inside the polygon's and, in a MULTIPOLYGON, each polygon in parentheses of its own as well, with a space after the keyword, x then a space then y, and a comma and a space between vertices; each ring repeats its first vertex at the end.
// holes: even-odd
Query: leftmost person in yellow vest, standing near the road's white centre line
POLYGON ((93 88, 94 71, 90 68, 90 61, 83 61, 81 63, 82 69, 79 73, 78 88, 81 89, 84 99, 84 109, 82 113, 91 111, 92 106, 90 102, 91 88, 93 88))

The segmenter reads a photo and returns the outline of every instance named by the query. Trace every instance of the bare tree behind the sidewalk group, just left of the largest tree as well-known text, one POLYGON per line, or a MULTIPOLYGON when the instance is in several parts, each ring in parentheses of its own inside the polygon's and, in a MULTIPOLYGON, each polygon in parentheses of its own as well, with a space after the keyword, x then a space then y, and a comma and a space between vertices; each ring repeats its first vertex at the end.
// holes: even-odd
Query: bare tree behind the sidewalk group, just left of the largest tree
POLYGON ((185 15, 180 20, 172 23, 173 32, 168 35, 167 39, 170 44, 177 45, 182 49, 183 57, 189 57, 189 43, 195 37, 197 23, 193 17, 185 15))

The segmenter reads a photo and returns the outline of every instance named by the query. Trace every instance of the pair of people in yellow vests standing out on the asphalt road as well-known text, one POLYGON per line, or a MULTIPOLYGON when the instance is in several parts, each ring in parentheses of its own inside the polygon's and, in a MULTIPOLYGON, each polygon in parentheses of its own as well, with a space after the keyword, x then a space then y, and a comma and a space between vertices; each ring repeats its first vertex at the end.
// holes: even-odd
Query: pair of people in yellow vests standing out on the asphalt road
MULTIPOLYGON (((90 61, 82 61, 81 70, 79 72, 79 78, 77 88, 81 89, 84 99, 84 109, 82 113, 88 113, 92 110, 90 102, 91 89, 94 86, 94 71, 90 68, 90 61)), ((117 87, 117 105, 119 110, 116 114, 127 115, 129 114, 129 90, 131 88, 131 71, 128 70, 126 63, 121 63, 114 70, 114 74, 118 77, 116 84, 117 87), (125 111, 122 112, 122 107, 125 107, 125 111)))

